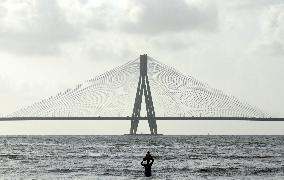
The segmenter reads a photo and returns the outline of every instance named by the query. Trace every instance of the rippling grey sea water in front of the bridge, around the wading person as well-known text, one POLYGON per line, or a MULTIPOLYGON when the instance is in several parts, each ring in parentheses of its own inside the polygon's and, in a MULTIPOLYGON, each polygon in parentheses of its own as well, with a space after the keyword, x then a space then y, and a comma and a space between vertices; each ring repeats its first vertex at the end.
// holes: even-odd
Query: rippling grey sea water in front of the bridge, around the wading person
POLYGON ((0 136, 0 179, 284 179, 284 136, 0 136))

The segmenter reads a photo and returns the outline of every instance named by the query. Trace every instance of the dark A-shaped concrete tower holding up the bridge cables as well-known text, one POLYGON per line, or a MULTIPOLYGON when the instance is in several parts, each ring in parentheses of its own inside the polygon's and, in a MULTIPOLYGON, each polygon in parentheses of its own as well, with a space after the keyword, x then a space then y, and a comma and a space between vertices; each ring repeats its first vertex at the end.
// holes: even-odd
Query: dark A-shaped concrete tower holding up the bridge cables
POLYGON ((145 96, 145 104, 147 111, 147 118, 151 134, 157 134, 157 123, 155 119, 155 110, 151 96, 150 84, 147 75, 147 54, 140 55, 140 76, 138 87, 134 102, 134 108, 131 119, 130 134, 136 134, 137 127, 140 119, 142 96, 145 96))

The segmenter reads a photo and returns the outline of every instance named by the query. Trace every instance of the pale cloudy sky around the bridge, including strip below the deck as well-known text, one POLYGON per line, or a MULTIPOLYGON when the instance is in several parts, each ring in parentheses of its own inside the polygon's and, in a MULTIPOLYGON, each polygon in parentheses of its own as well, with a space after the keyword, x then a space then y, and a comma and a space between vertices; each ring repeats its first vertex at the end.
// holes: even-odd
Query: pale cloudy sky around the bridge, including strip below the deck
MULTIPOLYGON (((284 117, 283 0, 0 0, 0 114, 144 53, 284 117)), ((123 134, 129 127, 0 122, 0 134, 123 134)), ((158 121, 158 130, 284 134, 284 122, 158 121)), ((142 122, 138 132, 148 131, 142 122)))

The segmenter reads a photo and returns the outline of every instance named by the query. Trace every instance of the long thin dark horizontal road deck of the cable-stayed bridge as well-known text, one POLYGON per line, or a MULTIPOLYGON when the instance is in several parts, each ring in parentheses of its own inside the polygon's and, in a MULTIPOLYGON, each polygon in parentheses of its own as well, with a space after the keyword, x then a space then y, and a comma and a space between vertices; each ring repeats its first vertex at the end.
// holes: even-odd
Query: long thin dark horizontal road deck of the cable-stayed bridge
MULTIPOLYGON (((27 121, 27 120, 131 120, 132 117, 1 117, 0 121, 27 121)), ((156 120, 240 120, 240 121, 284 121, 284 118, 256 118, 256 117, 155 117, 156 120)), ((147 117, 139 117, 139 120, 148 120, 147 117)))

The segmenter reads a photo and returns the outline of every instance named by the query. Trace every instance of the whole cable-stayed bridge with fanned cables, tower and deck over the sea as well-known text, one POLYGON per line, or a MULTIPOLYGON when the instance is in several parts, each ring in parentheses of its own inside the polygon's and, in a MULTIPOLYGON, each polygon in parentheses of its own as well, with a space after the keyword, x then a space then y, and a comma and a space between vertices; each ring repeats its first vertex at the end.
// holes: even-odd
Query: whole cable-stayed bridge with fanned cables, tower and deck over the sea
POLYGON ((148 120, 151 134, 157 134, 156 120, 283 118, 272 118, 192 76, 141 55, 0 120, 130 120, 130 134, 136 134, 139 120, 148 120))

